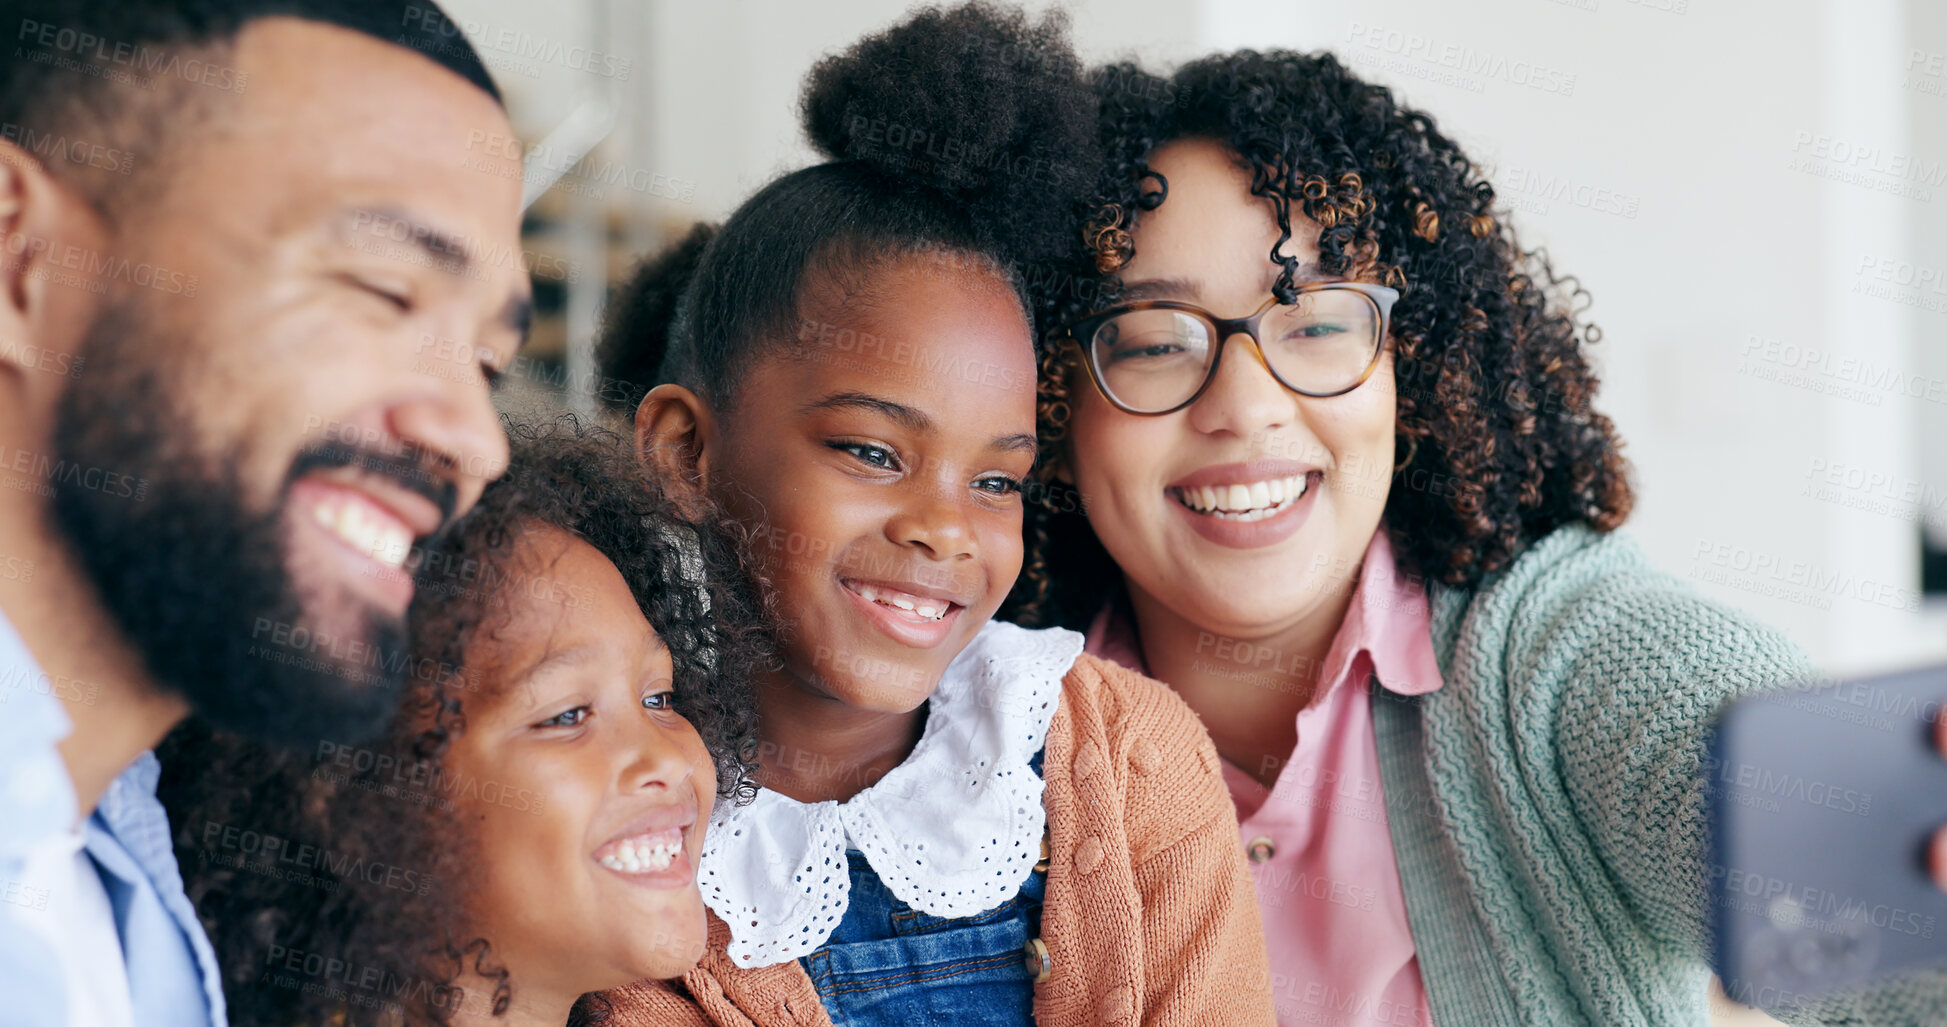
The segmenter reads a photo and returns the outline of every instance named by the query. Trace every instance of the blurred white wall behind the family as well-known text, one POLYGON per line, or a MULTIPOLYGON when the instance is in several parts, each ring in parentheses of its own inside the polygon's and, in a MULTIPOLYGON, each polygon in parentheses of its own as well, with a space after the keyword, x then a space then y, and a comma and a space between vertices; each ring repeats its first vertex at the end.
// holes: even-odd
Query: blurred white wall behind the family
MULTIPOLYGON (((613 197, 637 214, 631 249, 808 162, 804 72, 909 8, 448 4, 477 39, 498 33, 489 57, 506 58, 524 134, 607 92, 598 158, 648 183, 613 197), (520 57, 522 33, 539 58, 520 57), (611 60, 576 68, 533 37, 594 41, 611 60)), ((1330 49, 1433 113, 1525 240, 1595 298, 1600 405, 1628 440, 1632 530, 1657 563, 1836 672, 1947 659, 1947 616, 1918 579, 1920 520, 1947 528, 1941 4, 1063 6, 1090 60, 1330 49)))

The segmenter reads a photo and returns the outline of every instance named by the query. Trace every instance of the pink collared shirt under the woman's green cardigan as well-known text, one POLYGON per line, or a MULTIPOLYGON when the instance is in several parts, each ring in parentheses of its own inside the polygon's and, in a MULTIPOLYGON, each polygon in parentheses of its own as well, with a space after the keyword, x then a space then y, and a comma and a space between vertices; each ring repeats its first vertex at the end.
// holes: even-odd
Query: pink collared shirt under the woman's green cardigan
MULTIPOLYGON (((1088 651, 1149 672, 1135 624, 1114 604, 1090 626, 1088 651)), ((1256 655, 1240 659, 1240 676, 1254 663, 1264 666, 1256 655)), ((1299 742, 1277 783, 1266 789, 1223 764, 1258 879, 1281 1027, 1433 1023, 1386 828, 1369 676, 1400 696, 1441 686, 1427 592, 1400 575, 1384 524, 1365 550, 1359 590, 1318 668, 1320 690, 1299 711, 1299 742)))

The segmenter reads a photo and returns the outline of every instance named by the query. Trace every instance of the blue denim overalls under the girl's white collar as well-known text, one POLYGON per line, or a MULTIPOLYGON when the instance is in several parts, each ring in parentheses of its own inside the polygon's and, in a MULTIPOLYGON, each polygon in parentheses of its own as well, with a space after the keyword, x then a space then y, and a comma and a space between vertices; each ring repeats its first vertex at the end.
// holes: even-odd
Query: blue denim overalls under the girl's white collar
MULTIPOLYGON (((1042 754, 1030 764, 1042 772, 1042 754)), ((847 850, 851 902, 826 945, 798 963, 835 1027, 1032 1027, 1034 974, 1024 951, 1042 933, 1047 875, 1028 873, 999 906, 956 920, 900 902, 847 850)))

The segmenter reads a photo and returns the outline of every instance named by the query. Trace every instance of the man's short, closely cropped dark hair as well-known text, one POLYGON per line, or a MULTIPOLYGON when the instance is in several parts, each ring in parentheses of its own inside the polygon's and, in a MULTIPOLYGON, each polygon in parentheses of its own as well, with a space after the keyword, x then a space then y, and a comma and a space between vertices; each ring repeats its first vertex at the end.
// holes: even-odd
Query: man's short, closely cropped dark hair
POLYGON ((500 101, 479 53, 432 0, 0 0, 0 138, 97 205, 169 150, 171 129, 249 82, 224 55, 259 18, 339 25, 409 49, 500 101), (107 185, 115 183, 117 189, 107 185))

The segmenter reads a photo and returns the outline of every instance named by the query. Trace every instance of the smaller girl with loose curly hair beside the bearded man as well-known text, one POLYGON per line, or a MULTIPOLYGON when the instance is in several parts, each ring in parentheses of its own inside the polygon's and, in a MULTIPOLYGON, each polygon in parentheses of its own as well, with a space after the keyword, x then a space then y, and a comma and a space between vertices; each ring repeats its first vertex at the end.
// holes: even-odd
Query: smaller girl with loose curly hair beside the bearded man
POLYGON ((767 651, 736 550, 613 433, 516 427, 512 450, 421 555, 380 741, 171 739, 232 1023, 598 1023, 580 996, 703 953, 693 867, 713 799, 750 791, 767 651))

